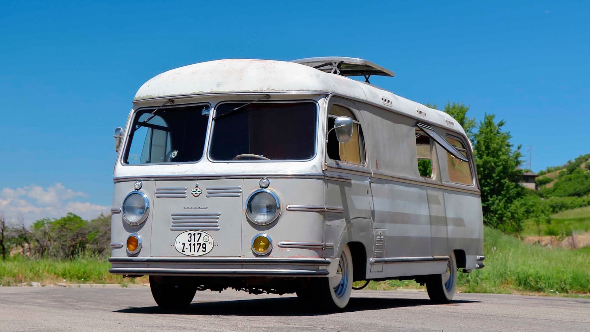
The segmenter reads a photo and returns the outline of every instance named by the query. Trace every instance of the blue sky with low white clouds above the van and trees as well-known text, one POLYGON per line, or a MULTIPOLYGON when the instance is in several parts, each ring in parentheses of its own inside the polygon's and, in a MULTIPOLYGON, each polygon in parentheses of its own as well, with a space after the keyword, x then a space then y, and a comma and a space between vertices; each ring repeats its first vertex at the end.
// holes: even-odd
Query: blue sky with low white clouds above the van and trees
POLYGON ((109 208, 112 132, 136 90, 218 58, 366 58, 397 95, 505 119, 535 171, 590 153, 590 3, 514 3, 3 1, 0 210, 109 208))

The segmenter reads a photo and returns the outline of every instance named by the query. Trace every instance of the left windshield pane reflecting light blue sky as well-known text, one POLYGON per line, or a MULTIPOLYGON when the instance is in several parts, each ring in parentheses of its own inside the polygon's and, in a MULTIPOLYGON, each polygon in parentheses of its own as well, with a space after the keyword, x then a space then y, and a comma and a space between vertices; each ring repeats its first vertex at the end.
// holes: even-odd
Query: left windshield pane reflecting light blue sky
POLYGON ((155 108, 138 110, 123 162, 136 165, 200 160, 209 109, 209 105, 168 107, 158 109, 153 115, 155 108), (148 122, 137 128, 147 119, 148 122))

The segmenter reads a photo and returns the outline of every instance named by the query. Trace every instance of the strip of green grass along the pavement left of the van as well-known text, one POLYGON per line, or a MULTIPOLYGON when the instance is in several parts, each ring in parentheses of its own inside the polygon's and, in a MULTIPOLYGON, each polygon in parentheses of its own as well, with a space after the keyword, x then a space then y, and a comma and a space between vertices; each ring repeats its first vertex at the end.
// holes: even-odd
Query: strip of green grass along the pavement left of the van
MULTIPOLYGON (((136 279, 123 279, 109 274, 110 263, 99 258, 77 258, 58 261, 55 259, 29 259, 13 255, 0 261, 0 285, 15 286, 40 282, 42 285, 64 284, 134 284, 136 279)), ((141 280, 139 281, 141 282, 141 280)))

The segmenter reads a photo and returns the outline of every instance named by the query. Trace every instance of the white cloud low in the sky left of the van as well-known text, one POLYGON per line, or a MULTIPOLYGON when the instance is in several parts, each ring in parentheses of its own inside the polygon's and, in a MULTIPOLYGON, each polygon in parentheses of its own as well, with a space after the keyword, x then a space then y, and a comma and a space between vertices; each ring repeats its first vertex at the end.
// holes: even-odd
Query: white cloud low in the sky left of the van
POLYGON ((26 185, 21 188, 2 188, 0 191, 0 212, 6 220, 17 222, 24 220, 26 226, 35 220, 59 218, 68 212, 77 214, 84 219, 93 219, 100 213, 107 213, 108 206, 79 201, 88 194, 74 191, 61 183, 49 187, 26 185))

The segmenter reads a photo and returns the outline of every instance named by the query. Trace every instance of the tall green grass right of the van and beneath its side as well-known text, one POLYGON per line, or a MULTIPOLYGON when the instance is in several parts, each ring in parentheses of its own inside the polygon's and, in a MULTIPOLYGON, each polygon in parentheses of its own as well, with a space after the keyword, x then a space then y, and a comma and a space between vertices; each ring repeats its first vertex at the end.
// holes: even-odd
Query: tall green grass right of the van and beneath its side
MULTIPOLYGON (((485 268, 460 273, 461 292, 545 294, 590 293, 590 248, 571 250, 523 243, 485 227, 485 268)), ((355 286, 362 285, 357 282, 355 286)), ((414 281, 371 282, 367 289, 421 288, 414 281)))

